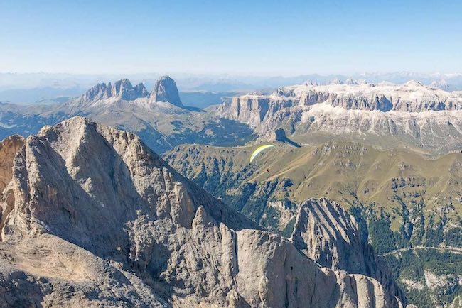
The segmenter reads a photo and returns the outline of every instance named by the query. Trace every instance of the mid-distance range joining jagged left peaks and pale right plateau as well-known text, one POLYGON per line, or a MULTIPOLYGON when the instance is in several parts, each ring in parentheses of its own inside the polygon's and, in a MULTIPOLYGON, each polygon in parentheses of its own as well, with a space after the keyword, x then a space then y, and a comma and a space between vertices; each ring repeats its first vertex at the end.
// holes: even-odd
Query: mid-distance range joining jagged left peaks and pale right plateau
POLYGON ((151 92, 129 79, 99 83, 64 103, 0 104, 0 137, 23 136, 71 116, 138 133, 163 153, 182 143, 245 144, 269 141, 279 130, 301 145, 332 138, 382 148, 419 148, 430 155, 462 148, 462 92, 421 82, 371 84, 333 79, 305 82, 270 94, 252 92, 199 109, 184 106, 168 76, 151 92))

